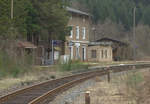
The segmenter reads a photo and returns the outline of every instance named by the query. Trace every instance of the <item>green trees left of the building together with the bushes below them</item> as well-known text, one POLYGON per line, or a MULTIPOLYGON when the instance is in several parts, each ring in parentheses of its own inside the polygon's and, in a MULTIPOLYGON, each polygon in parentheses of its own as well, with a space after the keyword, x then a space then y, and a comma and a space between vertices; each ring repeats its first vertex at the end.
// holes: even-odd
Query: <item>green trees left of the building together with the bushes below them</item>
POLYGON ((45 42, 65 39, 66 5, 67 1, 60 0, 0 0, 0 78, 17 77, 32 69, 31 55, 18 55, 18 41, 32 36, 45 42))

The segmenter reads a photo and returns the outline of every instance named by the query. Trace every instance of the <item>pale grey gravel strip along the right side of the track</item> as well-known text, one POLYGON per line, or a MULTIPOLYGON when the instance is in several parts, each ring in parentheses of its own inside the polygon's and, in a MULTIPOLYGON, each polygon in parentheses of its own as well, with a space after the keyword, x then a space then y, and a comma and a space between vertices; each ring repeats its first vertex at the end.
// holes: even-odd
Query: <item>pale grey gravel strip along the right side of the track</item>
MULTIPOLYGON (((115 78, 118 76, 126 76, 126 75, 128 75, 129 72, 134 72, 134 71, 111 73, 110 77, 115 78)), ((78 104, 78 102, 79 102, 77 100, 78 97, 82 97, 81 99, 83 99, 83 104, 84 104, 84 93, 87 91, 87 89, 95 86, 97 84, 97 82, 106 81, 106 80, 107 80, 107 76, 96 77, 96 78, 87 80, 84 83, 81 83, 81 84, 63 92, 49 104, 78 104)))

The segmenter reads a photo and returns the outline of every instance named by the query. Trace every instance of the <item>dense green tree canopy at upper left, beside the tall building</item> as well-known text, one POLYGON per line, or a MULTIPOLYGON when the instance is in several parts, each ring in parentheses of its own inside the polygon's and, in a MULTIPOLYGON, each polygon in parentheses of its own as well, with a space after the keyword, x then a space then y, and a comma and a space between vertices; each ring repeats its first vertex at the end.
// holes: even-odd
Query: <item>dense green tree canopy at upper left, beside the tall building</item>
POLYGON ((68 22, 64 6, 67 4, 60 0, 0 0, 0 36, 16 39, 41 35, 45 39, 64 39, 68 22))

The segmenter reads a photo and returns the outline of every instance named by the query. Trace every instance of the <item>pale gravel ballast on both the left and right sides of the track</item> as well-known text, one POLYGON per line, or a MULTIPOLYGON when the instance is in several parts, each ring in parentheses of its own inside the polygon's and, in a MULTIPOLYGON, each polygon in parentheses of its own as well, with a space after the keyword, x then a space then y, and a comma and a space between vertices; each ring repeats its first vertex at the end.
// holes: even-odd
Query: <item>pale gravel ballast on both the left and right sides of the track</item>
MULTIPOLYGON (((115 77, 115 76, 121 76, 121 75, 126 75, 126 73, 128 72, 121 72, 121 73, 115 73, 115 74, 111 74, 111 77, 115 77)), ((47 79, 46 79, 47 80, 47 79)), ((78 86, 75 86, 73 88, 70 88, 69 90, 63 92, 62 94, 60 94, 59 96, 57 96, 54 101, 50 102, 49 104, 74 104, 73 102, 78 102, 76 101, 76 98, 79 96, 82 96, 84 99, 84 93, 87 91, 87 89, 89 87, 92 87, 96 84, 97 81, 102 81, 102 80, 107 80, 107 77, 96 77, 90 80, 87 80, 81 84, 79 84, 78 86)), ((35 83, 39 83, 39 81, 37 82, 31 82, 30 84, 28 83, 23 83, 13 86, 10 89, 4 90, 4 91, 0 91, 0 96, 7 94, 8 92, 12 92, 16 89, 20 89, 23 87, 26 87, 28 85, 32 85, 35 83)))

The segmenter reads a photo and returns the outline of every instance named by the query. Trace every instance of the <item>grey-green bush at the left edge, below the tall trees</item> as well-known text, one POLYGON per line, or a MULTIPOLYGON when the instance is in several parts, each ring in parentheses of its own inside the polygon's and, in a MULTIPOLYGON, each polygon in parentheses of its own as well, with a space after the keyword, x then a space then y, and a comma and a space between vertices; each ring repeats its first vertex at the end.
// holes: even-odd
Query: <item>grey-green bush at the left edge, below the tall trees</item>
POLYGON ((0 52, 0 78, 6 76, 18 77, 31 69, 30 56, 25 56, 24 63, 20 57, 11 57, 7 52, 0 52))

